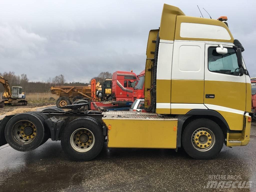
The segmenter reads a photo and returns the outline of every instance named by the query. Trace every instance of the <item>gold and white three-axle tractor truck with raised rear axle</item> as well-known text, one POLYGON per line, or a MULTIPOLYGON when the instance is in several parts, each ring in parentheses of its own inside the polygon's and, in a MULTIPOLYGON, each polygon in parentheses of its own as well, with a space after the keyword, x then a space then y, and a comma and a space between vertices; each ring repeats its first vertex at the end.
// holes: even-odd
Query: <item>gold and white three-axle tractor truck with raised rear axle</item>
POLYGON ((0 124, 1 145, 31 151, 51 138, 75 161, 95 158, 105 141, 107 147, 183 147, 195 159, 215 157, 223 144, 247 145, 251 81, 244 48, 226 20, 189 17, 164 4, 160 28, 148 36, 144 112, 76 104, 67 112, 10 115, 0 124))

